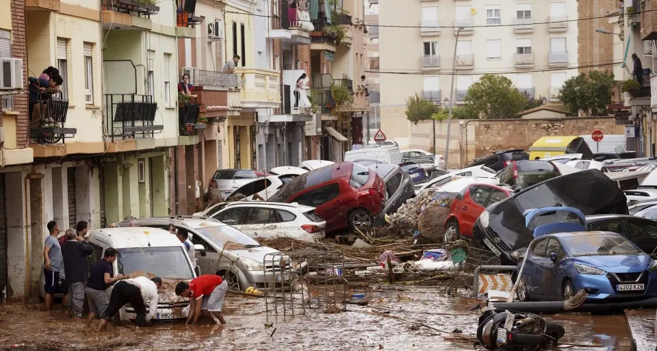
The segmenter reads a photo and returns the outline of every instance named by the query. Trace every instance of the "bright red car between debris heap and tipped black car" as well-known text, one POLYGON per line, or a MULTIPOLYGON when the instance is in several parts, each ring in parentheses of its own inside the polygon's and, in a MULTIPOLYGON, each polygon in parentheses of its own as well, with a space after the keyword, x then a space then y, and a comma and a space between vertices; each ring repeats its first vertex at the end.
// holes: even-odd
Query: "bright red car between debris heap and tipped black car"
POLYGON ((445 241, 454 241, 460 235, 474 237, 472 227, 479 215, 489 205, 504 200, 511 194, 511 190, 489 184, 472 184, 466 187, 452 200, 450 214, 445 220, 445 241))

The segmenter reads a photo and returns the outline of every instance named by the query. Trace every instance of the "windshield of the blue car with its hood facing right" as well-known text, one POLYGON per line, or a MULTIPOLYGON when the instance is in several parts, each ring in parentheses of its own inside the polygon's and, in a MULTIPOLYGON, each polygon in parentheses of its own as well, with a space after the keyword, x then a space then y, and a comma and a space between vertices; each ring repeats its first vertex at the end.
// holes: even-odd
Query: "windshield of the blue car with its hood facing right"
POLYGON ((563 237, 565 247, 574 256, 634 255, 643 253, 620 235, 589 234, 563 237))

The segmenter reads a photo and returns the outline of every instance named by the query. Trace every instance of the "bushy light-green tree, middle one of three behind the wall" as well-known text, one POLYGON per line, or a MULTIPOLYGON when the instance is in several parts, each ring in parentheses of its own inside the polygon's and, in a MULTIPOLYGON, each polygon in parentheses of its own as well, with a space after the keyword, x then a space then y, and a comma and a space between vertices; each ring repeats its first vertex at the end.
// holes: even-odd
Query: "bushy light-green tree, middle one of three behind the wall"
POLYGON ((465 95, 465 107, 483 118, 515 118, 525 105, 525 97, 511 79, 501 75, 482 75, 465 95))

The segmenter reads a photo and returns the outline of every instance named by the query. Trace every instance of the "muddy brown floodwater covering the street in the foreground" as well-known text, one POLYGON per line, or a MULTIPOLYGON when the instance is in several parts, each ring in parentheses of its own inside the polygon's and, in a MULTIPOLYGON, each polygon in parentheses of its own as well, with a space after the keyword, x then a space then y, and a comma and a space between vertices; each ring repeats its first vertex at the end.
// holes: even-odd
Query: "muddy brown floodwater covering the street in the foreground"
MULTIPOLYGON (((326 314, 267 317, 261 298, 227 296, 228 324, 214 322, 186 328, 183 322, 155 324, 151 328, 110 326, 107 333, 83 328, 59 306, 52 312, 23 305, 0 307, 0 349, 25 343, 24 350, 473 350, 472 342, 446 341, 438 331, 412 327, 389 315, 423 322, 434 328, 475 335, 479 314, 469 311, 472 298, 448 297, 431 287, 378 287, 366 293, 370 305, 348 305, 348 311, 326 314), (272 323, 266 327, 266 323, 272 323), (275 331, 274 331, 275 330, 275 331), (47 346, 47 348, 45 348, 47 346), (101 347, 99 347, 101 346, 101 347)), ((630 335, 623 315, 556 315, 566 330, 563 342, 604 345, 569 350, 630 350, 630 335)), ((97 324, 97 320, 95 322, 97 324)), ((21 350, 14 348, 11 350, 21 350)))

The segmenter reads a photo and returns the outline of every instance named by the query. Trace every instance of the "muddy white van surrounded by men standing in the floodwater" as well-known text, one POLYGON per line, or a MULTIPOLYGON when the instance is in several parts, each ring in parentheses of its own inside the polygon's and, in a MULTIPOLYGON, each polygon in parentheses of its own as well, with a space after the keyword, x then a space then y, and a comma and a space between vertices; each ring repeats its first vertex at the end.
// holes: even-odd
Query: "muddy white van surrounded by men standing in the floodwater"
MULTIPOLYGON (((180 240, 164 229, 149 227, 106 228, 90 232, 87 242, 94 247, 89 257, 89 267, 96 260, 103 259, 107 248, 115 248, 118 257, 112 265, 116 274, 128 275, 133 272, 159 276, 168 290, 159 291, 156 320, 177 320, 186 318, 189 312, 189 300, 176 296, 172 291, 177 281, 191 281, 196 278, 197 269, 183 250, 180 240), (172 281, 172 284, 166 284, 172 281)), ((112 287, 105 290, 110 300, 112 287)), ((124 306, 118 313, 120 320, 136 317, 132 307, 124 306)))

